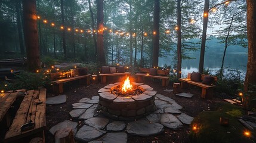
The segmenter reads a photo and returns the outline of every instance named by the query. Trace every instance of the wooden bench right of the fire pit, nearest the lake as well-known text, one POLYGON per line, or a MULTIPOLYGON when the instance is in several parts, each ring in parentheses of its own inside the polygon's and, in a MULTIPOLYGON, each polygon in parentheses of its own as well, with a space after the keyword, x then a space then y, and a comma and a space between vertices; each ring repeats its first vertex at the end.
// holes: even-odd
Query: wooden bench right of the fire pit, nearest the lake
MULTIPOLYGON (((214 84, 213 85, 205 85, 205 84, 203 84, 201 82, 192 81, 190 79, 190 75, 191 75, 191 73, 188 74, 187 78, 178 79, 178 80, 181 81, 181 88, 187 88, 187 86, 189 84, 195 85, 195 86, 199 86, 199 87, 202 88, 202 94, 201 94, 202 98, 212 98, 212 96, 213 96, 213 89, 216 87, 214 84, 217 82, 217 77, 216 76, 212 76, 212 77, 214 77, 214 84)), ((201 80, 203 80, 205 78, 205 76, 209 76, 209 75, 201 74, 201 80)))

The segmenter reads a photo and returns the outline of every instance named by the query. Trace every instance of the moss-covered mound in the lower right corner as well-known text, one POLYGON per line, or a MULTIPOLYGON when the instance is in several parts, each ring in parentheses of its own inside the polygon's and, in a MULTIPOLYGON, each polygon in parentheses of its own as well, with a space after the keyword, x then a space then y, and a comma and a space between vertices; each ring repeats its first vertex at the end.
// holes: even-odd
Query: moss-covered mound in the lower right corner
POLYGON ((252 142, 243 135, 246 130, 238 121, 243 110, 236 105, 222 103, 216 111, 203 111, 191 124, 189 138, 191 142, 252 142), (229 126, 220 125, 220 117, 229 119, 229 126), (195 130, 193 127, 197 126, 195 130))

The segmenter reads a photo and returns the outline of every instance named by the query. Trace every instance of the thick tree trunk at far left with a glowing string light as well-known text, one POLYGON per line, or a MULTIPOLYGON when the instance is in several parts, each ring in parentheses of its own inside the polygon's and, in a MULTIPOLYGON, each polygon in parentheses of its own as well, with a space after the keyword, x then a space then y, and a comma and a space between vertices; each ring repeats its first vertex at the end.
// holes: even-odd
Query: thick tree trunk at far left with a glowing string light
POLYGON ((36 23, 36 0, 23 0, 24 39, 27 49, 27 69, 36 72, 41 68, 36 23))

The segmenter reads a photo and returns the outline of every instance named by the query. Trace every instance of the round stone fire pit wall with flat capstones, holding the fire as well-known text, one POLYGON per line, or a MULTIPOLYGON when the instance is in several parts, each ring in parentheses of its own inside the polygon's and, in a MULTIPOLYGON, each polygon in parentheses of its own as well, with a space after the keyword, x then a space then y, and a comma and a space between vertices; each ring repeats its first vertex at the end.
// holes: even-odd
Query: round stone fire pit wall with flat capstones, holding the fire
POLYGON ((133 96, 118 96, 111 94, 111 91, 122 83, 114 83, 101 88, 98 91, 98 108, 104 115, 118 120, 134 120, 146 116, 156 110, 155 95, 149 85, 143 83, 131 83, 143 91, 142 94, 133 96))

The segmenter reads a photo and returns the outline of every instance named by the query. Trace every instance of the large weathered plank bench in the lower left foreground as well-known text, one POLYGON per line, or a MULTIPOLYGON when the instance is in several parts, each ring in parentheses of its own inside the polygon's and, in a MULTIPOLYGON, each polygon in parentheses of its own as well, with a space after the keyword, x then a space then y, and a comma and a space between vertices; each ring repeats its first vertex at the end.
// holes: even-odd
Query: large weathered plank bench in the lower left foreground
MULTIPOLYGON (((34 138, 35 136, 41 137, 44 140, 44 130, 46 129, 45 108, 46 89, 27 91, 13 123, 5 134, 4 142, 19 142, 18 139, 25 137, 34 138), (41 100, 42 103, 36 104, 38 100, 41 100), (30 120, 32 123, 35 123, 34 128, 21 132, 20 127, 25 123, 29 123, 30 120)), ((24 141, 22 140, 22 142, 24 141)))

